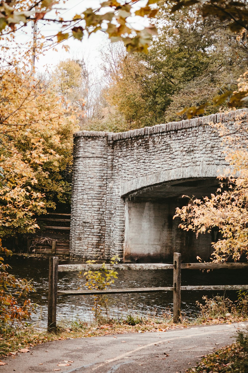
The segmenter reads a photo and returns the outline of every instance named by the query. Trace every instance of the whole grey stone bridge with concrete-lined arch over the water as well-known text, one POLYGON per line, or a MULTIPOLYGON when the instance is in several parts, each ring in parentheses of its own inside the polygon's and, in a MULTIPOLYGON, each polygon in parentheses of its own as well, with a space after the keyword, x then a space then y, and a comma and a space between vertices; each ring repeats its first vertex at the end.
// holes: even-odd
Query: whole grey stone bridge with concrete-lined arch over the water
POLYGON ((168 262, 207 260, 217 232, 178 228, 183 195, 216 191, 225 169, 222 139, 210 123, 232 127, 242 109, 128 132, 74 135, 70 248, 75 257, 168 262))

